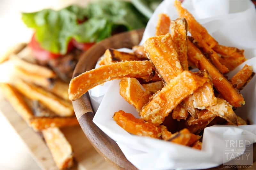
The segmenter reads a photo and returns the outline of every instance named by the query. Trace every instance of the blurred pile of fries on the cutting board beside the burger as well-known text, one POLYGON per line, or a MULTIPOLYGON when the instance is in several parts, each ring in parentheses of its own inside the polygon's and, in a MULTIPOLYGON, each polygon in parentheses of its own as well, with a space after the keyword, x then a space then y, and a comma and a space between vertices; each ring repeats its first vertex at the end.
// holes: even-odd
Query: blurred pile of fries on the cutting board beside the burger
POLYGON ((29 126, 42 133, 58 168, 71 167, 72 147, 59 129, 78 125, 68 100, 68 83, 37 64, 26 44, 14 48, 8 59, 15 66, 14 78, 8 84, 0 83, 2 94, 29 126))

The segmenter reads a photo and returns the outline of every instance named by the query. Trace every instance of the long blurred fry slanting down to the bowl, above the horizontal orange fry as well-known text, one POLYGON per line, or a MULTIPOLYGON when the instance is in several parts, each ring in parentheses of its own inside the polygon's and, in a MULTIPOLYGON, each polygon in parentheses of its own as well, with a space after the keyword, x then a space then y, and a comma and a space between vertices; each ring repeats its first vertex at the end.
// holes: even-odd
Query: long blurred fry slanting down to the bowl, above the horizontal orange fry
POLYGON ((60 116, 74 115, 74 110, 70 101, 62 100, 51 92, 32 84, 25 83, 23 80, 16 79, 13 81, 14 86, 23 95, 31 100, 38 100, 47 108, 60 116))

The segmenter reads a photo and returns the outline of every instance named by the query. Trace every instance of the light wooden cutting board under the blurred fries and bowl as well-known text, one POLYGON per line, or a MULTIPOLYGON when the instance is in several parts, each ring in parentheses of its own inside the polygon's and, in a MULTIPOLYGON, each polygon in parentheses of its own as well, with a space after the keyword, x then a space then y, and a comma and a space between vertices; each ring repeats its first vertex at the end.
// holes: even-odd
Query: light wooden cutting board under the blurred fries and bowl
MULTIPOLYGON (((37 164, 46 170, 58 169, 52 158, 50 150, 46 146, 43 138, 30 128, 27 123, 12 108, 10 103, 0 94, 0 113, 10 122, 17 134, 27 145, 31 155, 37 164)), ((90 170, 90 169, 114 169, 99 153, 92 147, 87 140, 80 126, 66 127, 61 129, 70 142, 76 165, 72 169, 90 170)))

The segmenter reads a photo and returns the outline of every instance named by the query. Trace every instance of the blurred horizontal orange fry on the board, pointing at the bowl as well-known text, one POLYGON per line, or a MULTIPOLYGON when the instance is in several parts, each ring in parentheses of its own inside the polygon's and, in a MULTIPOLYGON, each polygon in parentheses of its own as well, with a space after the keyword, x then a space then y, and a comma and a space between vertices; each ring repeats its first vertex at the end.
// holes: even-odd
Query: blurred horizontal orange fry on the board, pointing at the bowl
POLYGON ((33 117, 29 125, 36 131, 53 128, 79 125, 76 117, 33 117))

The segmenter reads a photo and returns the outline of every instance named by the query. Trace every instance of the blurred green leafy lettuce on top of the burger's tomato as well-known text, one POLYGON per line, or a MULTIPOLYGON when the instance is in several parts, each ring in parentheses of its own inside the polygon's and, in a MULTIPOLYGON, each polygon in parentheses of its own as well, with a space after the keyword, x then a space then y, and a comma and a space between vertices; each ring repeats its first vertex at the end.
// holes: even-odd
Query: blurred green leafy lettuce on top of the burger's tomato
POLYGON ((35 29, 42 48, 60 54, 67 52, 71 38, 78 42, 98 42, 111 36, 117 28, 131 30, 143 28, 147 23, 147 18, 131 3, 116 0, 100 0, 84 8, 71 5, 60 11, 22 13, 22 20, 35 29))

